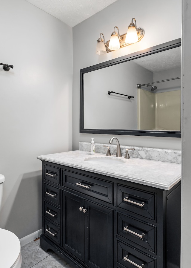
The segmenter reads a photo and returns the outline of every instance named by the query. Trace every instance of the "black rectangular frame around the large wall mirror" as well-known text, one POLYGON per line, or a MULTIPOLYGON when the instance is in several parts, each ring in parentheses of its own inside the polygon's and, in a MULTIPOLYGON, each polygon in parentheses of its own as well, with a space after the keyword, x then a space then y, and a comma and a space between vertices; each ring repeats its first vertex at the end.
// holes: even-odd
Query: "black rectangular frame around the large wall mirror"
POLYGON ((134 135, 134 136, 154 136, 154 137, 181 137, 181 131, 151 131, 151 130, 129 130, 129 129, 90 129, 84 128, 84 73, 95 71, 101 68, 130 61, 154 53, 158 53, 171 48, 181 46, 181 38, 164 44, 160 44, 145 50, 141 50, 126 56, 102 62, 80 70, 80 133, 113 134, 113 135, 134 135))

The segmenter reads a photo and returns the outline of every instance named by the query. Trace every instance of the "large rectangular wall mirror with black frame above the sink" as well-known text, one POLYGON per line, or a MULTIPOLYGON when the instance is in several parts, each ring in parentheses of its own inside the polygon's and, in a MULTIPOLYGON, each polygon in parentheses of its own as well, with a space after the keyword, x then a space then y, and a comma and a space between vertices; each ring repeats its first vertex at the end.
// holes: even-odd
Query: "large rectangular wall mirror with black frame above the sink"
POLYGON ((80 133, 181 137, 181 39, 81 69, 80 133))

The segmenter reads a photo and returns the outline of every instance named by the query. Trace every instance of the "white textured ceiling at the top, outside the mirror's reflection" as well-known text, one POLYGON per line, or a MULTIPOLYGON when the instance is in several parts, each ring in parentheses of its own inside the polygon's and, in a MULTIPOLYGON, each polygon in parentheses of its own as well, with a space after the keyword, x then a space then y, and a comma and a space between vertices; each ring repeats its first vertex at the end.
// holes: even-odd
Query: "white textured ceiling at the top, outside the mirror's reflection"
POLYGON ((70 27, 77 25, 117 0, 25 0, 70 27))

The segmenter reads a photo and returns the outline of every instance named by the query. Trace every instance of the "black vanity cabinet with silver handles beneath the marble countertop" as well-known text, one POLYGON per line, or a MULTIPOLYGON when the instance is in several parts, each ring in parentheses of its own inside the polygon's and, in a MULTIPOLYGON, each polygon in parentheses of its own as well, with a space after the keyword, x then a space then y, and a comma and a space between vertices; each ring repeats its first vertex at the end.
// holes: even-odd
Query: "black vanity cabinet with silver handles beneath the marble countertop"
POLYGON ((180 267, 180 190, 43 161, 40 246, 80 268, 180 267))

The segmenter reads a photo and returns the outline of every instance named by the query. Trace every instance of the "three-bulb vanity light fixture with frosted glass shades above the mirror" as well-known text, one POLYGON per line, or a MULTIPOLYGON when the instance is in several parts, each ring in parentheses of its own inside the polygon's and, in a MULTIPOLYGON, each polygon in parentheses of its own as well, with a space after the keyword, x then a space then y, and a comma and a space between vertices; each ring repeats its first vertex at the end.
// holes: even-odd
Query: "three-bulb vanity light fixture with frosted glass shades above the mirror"
POLYGON ((134 44, 140 41, 144 36, 144 30, 141 28, 137 28, 137 23, 135 18, 131 20, 129 24, 128 30, 126 34, 120 36, 119 28, 117 26, 114 27, 114 31, 111 34, 111 38, 109 41, 105 42, 104 34, 100 33, 97 47, 96 47, 96 54, 102 55, 113 50, 117 50, 119 48, 126 47, 128 45, 134 44), (134 20, 134 22, 133 22, 134 20), (118 33, 115 31, 117 29, 118 33), (101 38, 101 35, 103 38, 101 38))

